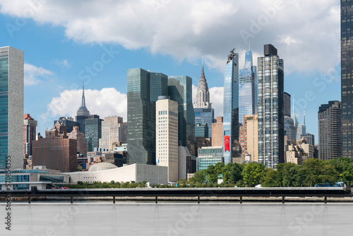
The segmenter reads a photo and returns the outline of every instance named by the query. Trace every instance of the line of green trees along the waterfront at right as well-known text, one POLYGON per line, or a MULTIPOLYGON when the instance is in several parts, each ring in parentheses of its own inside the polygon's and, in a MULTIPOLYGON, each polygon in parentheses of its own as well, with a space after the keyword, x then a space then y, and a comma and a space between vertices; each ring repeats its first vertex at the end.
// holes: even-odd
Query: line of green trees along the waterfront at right
POLYGON ((267 168, 261 163, 237 164, 217 163, 207 169, 198 171, 189 179, 181 179, 180 187, 220 187, 237 185, 237 187, 314 187, 315 184, 335 184, 353 182, 353 160, 335 158, 318 160, 309 158, 302 165, 281 163, 277 169, 267 168), (223 183, 217 184, 222 177, 223 183))

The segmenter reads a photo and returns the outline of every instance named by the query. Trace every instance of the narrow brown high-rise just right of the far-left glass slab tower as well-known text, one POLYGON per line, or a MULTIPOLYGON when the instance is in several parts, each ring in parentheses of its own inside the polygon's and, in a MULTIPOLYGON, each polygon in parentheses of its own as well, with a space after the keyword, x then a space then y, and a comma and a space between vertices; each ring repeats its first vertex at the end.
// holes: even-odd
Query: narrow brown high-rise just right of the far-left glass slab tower
POLYGON ((35 140, 37 121, 30 114, 23 116, 23 153, 32 155, 32 141, 35 140))

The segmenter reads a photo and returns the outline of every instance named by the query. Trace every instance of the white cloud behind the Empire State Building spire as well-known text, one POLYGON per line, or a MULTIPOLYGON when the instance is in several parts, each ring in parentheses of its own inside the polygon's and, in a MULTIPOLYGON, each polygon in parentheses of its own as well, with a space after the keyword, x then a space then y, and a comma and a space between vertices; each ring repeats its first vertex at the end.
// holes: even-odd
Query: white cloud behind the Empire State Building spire
MULTIPOLYGON (((61 116, 76 116, 81 106, 82 90, 64 90, 59 97, 55 97, 47 106, 47 113, 42 119, 51 120, 61 116)), ((126 122, 127 97, 115 88, 102 88, 102 90, 85 90, 85 104, 90 114, 98 114, 100 118, 118 115, 126 122)), ((49 123, 50 123, 49 122, 49 123)), ((51 123, 50 123, 51 124, 51 123)))

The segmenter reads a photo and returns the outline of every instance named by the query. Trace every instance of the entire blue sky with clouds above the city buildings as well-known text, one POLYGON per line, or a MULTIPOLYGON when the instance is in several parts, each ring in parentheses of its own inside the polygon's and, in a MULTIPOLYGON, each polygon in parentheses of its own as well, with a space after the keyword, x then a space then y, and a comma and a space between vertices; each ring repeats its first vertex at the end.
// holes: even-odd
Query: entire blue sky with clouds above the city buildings
POLYGON ((190 76, 204 58, 215 116, 222 116, 227 54, 256 65, 272 44, 285 63, 294 113, 318 142, 318 107, 340 100, 339 0, 0 0, 0 47, 25 53, 25 113, 37 132, 86 106, 126 121, 126 71, 190 76))

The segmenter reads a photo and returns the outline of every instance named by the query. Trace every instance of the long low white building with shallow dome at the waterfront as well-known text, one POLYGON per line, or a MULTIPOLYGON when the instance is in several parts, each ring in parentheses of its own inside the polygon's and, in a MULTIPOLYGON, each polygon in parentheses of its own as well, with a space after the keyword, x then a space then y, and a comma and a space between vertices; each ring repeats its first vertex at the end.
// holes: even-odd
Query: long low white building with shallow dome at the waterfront
POLYGON ((71 183, 78 181, 88 182, 143 182, 150 184, 167 184, 168 167, 157 165, 132 164, 116 167, 111 163, 98 163, 92 165, 88 171, 67 173, 71 183))

